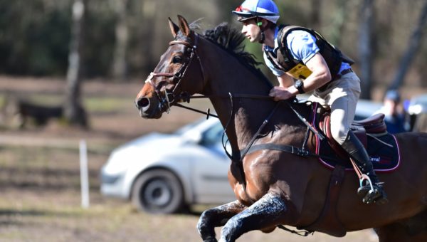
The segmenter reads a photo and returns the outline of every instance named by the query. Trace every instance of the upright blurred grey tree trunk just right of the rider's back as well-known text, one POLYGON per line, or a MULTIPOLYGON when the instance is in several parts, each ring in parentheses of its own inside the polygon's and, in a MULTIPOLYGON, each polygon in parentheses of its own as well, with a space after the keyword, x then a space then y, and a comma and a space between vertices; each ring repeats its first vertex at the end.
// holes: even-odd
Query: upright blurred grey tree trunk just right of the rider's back
POLYGON ((373 0, 363 0, 361 9, 359 55, 360 55, 360 79, 362 93, 360 98, 371 99, 372 63, 372 25, 374 23, 373 0))

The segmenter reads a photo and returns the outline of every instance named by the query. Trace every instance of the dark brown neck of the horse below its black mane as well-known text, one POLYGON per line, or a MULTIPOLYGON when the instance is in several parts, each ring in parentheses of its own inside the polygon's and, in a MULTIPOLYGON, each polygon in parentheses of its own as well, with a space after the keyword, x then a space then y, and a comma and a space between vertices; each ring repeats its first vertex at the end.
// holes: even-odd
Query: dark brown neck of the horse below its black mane
MULTIPOLYGON (((204 54, 210 57, 203 58, 204 65, 209 66, 204 68, 208 80, 204 94, 268 96, 270 86, 226 51, 205 49, 204 54), (209 55, 213 51, 216 55, 209 55)), ((226 134, 234 149, 242 149, 248 144, 275 106, 275 102, 253 98, 233 98, 233 105, 229 98, 211 98, 211 102, 224 127, 233 113, 226 134)))

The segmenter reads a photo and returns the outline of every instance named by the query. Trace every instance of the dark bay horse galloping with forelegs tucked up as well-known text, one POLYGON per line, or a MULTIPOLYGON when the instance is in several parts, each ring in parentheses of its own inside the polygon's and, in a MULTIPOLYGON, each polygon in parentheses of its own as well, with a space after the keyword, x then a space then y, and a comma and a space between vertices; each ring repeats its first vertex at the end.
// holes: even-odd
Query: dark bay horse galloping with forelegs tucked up
MULTIPOLYGON (((171 105, 196 93, 206 95, 226 127, 233 150, 228 179, 237 200, 204 211, 197 224, 204 241, 216 241, 216 226, 223 226, 220 241, 235 241, 248 231, 271 232, 282 225, 332 236, 375 228, 379 241, 427 241, 427 134, 396 135, 401 165, 379 174, 388 204, 363 204, 356 192, 357 176, 346 172, 332 207, 335 216, 315 223, 327 204, 332 173, 316 157, 259 149, 240 163, 234 159, 252 143, 301 147, 306 125, 289 105, 258 98, 267 96, 272 85, 251 65, 255 61, 241 48, 238 31, 221 24, 201 35, 194 24, 178 18, 178 25, 169 19, 174 40, 135 102, 142 117, 160 118, 171 105), (268 123, 258 134, 266 117, 268 123)), ((294 108, 303 117, 310 115, 306 105, 294 108)), ((314 146, 312 139, 307 146, 314 146)))

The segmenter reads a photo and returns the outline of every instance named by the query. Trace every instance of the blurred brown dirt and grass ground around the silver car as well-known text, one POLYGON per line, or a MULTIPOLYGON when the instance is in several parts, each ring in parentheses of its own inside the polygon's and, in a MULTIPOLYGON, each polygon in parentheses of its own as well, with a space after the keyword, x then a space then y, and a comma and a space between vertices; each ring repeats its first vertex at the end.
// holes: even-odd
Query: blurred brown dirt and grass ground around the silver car
MULTIPOLYGON (((65 81, 0 77, 0 97, 60 105, 65 81)), ((99 171, 111 150, 147 132, 171 132, 202 115, 173 108, 160 120, 142 120, 133 105, 141 83, 83 85, 90 128, 11 122, 0 130, 0 241, 200 241, 194 214, 156 216, 136 211, 128 201, 105 198, 99 171), (102 104, 102 105, 100 105, 102 104), (80 206, 78 142, 88 142, 90 207, 80 206)), ((206 108, 206 101, 191 103, 206 108)), ((219 233, 219 228, 216 230, 219 233)), ((276 230, 247 233, 240 241, 376 241, 371 230, 333 238, 322 233, 301 238, 276 230)))

